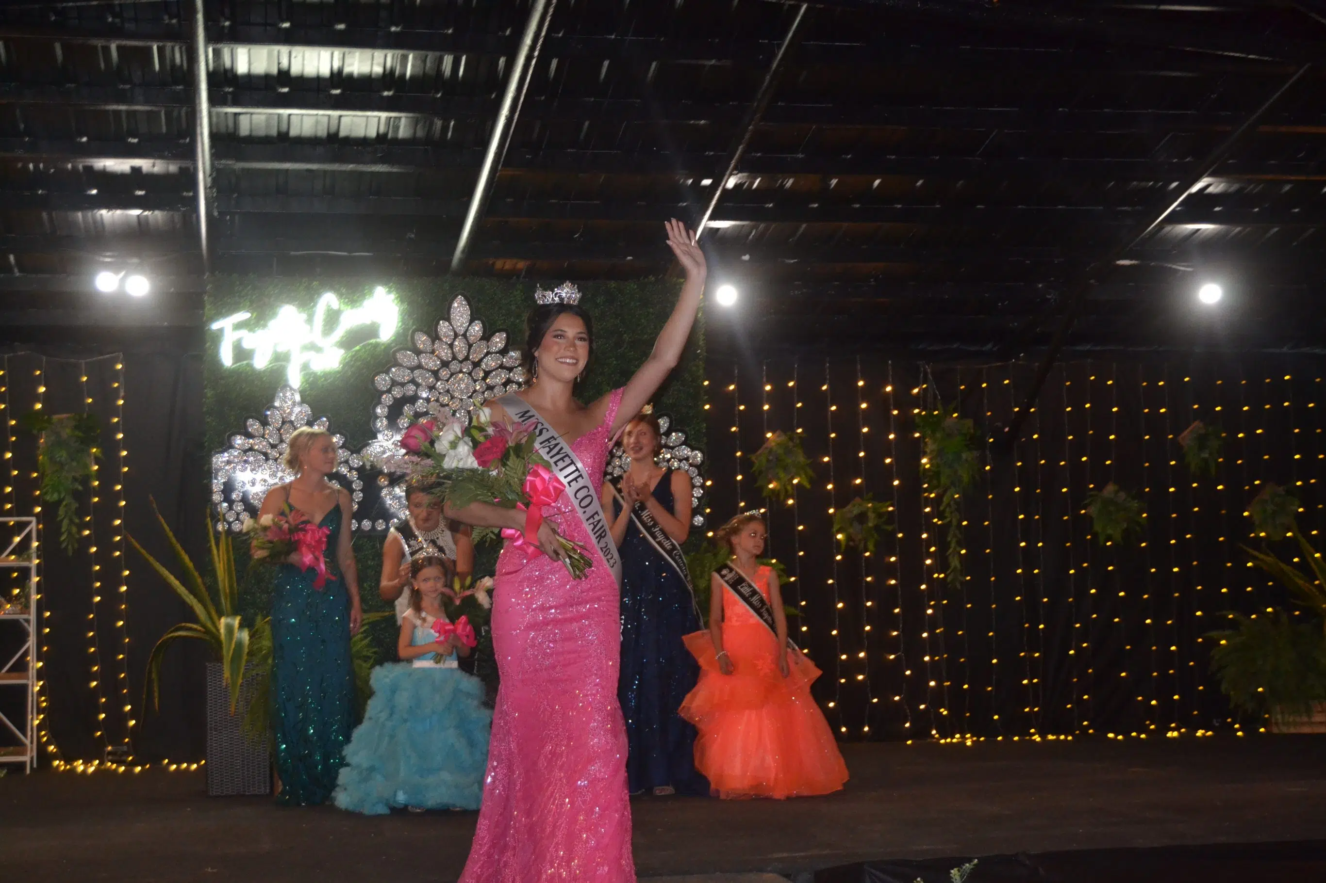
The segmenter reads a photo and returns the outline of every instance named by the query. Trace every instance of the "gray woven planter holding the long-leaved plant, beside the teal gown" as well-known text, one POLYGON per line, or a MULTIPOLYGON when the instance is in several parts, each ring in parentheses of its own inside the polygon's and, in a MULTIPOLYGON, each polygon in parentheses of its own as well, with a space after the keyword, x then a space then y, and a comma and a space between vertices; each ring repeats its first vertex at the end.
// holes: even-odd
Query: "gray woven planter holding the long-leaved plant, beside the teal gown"
POLYGON ((244 712, 253 692, 245 678, 240 704, 231 714, 231 694, 221 675, 221 663, 207 663, 207 794, 233 797, 272 793, 272 763, 268 739, 255 740, 244 732, 244 712))

